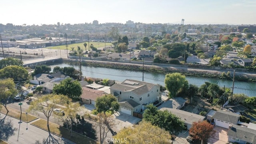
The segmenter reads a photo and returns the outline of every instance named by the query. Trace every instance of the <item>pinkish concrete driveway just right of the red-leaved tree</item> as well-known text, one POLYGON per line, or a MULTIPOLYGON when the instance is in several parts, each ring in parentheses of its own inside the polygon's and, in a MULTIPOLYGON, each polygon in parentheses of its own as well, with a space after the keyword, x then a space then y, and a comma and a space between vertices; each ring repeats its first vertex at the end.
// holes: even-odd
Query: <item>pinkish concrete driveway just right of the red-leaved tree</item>
POLYGON ((228 129, 215 126, 215 134, 209 138, 208 144, 226 144, 228 142, 228 129))

